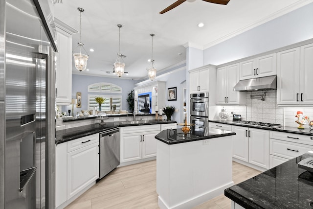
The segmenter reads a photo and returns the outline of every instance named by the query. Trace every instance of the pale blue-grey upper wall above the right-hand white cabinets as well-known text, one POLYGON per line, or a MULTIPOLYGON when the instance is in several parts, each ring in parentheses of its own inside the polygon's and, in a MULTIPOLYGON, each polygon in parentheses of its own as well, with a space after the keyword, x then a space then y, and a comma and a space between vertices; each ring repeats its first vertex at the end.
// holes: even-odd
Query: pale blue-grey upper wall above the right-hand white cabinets
POLYGON ((203 65, 221 65, 313 38, 313 3, 203 50, 203 65))

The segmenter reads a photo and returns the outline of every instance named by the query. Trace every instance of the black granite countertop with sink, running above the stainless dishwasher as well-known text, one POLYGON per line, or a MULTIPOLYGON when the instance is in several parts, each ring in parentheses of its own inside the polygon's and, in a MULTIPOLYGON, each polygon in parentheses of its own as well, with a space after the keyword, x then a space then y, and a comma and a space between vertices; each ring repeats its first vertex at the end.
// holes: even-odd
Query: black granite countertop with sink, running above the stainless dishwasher
POLYGON ((116 127, 123 126, 138 126, 138 125, 152 125, 152 124, 167 124, 167 123, 176 123, 176 121, 167 121, 167 120, 138 120, 138 123, 130 124, 132 121, 122 121, 122 122, 106 122, 105 124, 91 124, 75 128, 69 128, 64 130, 56 131, 55 143, 63 143, 73 139, 78 139, 81 137, 86 137, 92 134, 100 133, 107 131, 116 127))

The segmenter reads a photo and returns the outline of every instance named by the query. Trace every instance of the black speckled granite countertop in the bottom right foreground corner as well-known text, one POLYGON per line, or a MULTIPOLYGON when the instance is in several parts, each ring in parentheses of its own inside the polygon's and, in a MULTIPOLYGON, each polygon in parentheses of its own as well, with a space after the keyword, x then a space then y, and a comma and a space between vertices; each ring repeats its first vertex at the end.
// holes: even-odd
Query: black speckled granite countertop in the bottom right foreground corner
POLYGON ((224 194, 246 209, 312 209, 313 174, 297 166, 309 157, 312 151, 231 186, 224 194))

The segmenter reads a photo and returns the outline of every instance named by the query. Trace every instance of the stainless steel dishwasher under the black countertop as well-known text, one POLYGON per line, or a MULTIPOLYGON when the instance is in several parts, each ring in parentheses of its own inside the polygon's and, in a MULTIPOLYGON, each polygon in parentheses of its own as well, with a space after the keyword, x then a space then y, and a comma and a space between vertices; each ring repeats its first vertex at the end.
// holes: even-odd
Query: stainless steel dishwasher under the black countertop
POLYGON ((119 128, 100 133, 99 179, 110 173, 120 163, 119 128))

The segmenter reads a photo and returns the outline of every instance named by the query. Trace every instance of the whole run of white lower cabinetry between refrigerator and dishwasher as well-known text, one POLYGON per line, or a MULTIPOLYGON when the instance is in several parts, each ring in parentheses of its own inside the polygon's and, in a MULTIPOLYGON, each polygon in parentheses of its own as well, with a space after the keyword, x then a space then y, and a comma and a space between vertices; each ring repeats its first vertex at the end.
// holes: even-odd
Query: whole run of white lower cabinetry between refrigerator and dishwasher
POLYGON ((57 208, 64 208, 99 178, 99 134, 56 145, 57 208))

